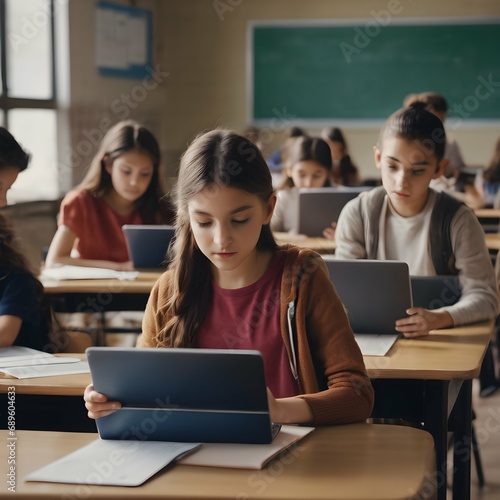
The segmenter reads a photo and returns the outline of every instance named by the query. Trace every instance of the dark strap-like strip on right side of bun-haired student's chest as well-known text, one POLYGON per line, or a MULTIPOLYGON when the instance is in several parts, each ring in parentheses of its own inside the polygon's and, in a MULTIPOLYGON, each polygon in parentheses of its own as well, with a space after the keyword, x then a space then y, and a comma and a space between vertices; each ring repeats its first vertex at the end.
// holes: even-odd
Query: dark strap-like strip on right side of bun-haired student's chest
POLYGON ((450 228, 453 217, 462 205, 460 200, 443 191, 438 194, 432 210, 429 230, 431 257, 436 274, 458 274, 451 245, 450 228))

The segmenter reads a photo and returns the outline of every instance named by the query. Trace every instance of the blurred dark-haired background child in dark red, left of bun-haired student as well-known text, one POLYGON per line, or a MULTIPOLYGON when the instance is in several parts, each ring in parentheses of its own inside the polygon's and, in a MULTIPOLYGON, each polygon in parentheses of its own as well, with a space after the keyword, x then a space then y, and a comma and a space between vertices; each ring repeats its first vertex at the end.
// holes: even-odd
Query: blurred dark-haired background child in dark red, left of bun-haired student
POLYGON ((351 160, 342 130, 337 127, 324 128, 321 138, 330 146, 333 182, 342 186, 359 186, 358 167, 351 160))

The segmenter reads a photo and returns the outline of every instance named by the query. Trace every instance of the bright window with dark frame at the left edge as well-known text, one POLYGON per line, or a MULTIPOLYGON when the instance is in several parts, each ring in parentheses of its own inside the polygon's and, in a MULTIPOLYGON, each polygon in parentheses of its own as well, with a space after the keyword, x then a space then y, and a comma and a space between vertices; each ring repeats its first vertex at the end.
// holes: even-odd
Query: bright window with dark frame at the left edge
POLYGON ((0 0, 0 124, 31 154, 9 203, 56 199, 54 0, 0 0))

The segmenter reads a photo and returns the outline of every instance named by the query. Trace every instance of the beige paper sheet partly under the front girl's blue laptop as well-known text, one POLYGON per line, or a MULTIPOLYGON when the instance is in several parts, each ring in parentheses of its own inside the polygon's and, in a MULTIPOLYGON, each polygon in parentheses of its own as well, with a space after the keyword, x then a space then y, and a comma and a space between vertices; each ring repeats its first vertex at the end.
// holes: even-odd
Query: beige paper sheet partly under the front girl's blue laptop
POLYGON ((307 436, 314 427, 283 425, 270 444, 205 443, 196 453, 178 462, 186 465, 262 469, 281 451, 307 436))

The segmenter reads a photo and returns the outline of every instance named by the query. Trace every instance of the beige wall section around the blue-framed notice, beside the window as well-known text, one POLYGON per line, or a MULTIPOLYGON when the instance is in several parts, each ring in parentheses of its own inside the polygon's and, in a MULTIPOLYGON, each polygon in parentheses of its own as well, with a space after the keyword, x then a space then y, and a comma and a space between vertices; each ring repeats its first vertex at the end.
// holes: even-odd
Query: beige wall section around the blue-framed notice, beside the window
MULTIPOLYGON (((111 124, 135 119, 158 135, 165 153, 167 144, 161 136, 165 116, 165 77, 157 75, 158 85, 149 90, 141 80, 107 77, 95 64, 95 17, 98 0, 70 0, 70 107, 71 144, 64 163, 71 164, 73 185, 83 177, 96 146, 111 124)), ((149 9, 153 13, 153 61, 163 61, 161 0, 113 0, 127 6, 149 9)), ((156 68, 155 68, 156 69, 156 68)), ((152 85, 148 85, 151 87, 152 85)))

